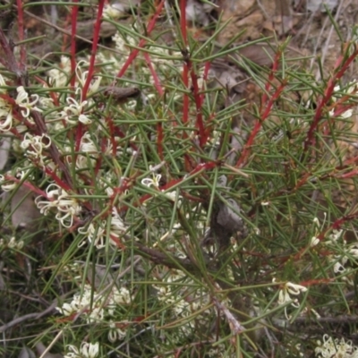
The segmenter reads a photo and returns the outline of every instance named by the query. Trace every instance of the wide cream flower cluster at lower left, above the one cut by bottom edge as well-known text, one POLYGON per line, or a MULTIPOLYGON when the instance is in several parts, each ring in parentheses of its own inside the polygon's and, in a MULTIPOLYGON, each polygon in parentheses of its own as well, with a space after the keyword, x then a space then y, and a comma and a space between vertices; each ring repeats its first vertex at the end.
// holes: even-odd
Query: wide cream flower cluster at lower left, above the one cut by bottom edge
MULTIPOLYGON (((96 294, 94 294, 96 296, 96 294)), ((92 287, 85 286, 82 293, 75 294, 71 303, 63 303, 61 307, 56 307, 64 316, 72 316, 77 313, 87 320, 87 323, 104 324, 109 329, 108 339, 111 342, 121 340, 125 337, 125 328, 128 326, 127 320, 116 320, 116 308, 123 305, 131 304, 132 295, 125 287, 117 288, 113 286, 110 293, 100 294, 93 300, 92 307, 90 307, 92 299, 92 287)))

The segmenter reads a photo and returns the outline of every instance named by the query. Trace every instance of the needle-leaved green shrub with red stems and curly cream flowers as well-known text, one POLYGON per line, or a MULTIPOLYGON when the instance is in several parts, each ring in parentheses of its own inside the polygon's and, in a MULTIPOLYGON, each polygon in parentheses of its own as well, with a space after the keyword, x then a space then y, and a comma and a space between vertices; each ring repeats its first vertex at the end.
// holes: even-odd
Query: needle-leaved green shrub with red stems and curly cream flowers
POLYGON ((150 24, 175 13, 146 11, 145 31, 106 14, 115 48, 3 64, 0 349, 353 357, 354 44, 316 81, 286 43, 270 68, 214 48, 225 26, 200 44, 178 21, 168 46, 150 24))

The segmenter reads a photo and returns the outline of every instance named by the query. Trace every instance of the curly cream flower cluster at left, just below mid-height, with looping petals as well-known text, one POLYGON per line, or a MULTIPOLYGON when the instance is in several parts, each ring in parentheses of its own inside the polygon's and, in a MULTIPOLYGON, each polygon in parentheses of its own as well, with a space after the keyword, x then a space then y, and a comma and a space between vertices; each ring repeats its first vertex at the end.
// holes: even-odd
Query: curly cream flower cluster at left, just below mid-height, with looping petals
POLYGON ((55 183, 47 186, 46 193, 49 201, 41 200, 41 196, 38 196, 35 200, 40 213, 46 216, 50 209, 56 209, 55 218, 64 227, 71 227, 73 218, 81 213, 81 206, 77 200, 73 199, 70 194, 55 183))

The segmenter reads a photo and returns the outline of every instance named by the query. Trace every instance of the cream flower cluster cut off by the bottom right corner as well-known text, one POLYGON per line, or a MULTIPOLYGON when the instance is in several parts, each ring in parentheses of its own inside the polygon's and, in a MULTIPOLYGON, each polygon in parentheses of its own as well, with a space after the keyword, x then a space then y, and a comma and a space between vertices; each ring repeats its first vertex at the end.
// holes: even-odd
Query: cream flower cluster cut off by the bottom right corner
POLYGON ((352 341, 346 341, 344 338, 333 340, 328 335, 323 336, 323 343, 318 341, 318 346, 314 352, 316 356, 322 358, 358 358, 358 348, 352 344, 352 341))

